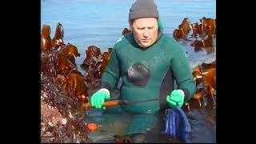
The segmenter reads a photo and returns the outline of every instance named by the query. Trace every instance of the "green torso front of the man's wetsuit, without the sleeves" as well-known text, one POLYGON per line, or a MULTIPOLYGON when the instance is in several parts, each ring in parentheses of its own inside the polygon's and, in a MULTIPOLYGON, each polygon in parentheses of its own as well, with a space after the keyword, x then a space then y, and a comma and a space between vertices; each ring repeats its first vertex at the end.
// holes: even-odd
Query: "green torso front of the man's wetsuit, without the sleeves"
MULTIPOLYGON (((121 96, 128 102, 158 99, 162 79, 170 68, 170 58, 166 58, 160 45, 148 50, 140 50, 127 45, 118 53, 122 73, 121 96)), ((158 101, 143 102, 126 106, 132 111, 154 111, 159 109, 158 101)))

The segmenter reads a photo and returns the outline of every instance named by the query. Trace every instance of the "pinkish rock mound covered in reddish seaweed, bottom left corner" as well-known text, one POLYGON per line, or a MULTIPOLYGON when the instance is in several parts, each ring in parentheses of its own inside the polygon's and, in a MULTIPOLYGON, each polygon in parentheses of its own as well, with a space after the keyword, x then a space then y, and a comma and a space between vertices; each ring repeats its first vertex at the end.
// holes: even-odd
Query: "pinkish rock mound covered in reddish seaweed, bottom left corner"
POLYGON ((80 102, 41 75, 41 142, 90 142, 80 102))

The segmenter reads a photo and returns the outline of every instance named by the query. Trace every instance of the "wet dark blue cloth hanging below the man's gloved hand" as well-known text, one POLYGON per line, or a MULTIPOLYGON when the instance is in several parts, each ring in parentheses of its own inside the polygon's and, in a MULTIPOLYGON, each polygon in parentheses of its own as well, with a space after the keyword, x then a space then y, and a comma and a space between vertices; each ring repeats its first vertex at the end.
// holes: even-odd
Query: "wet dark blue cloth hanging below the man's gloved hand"
POLYGON ((191 126, 183 110, 178 106, 168 109, 166 118, 166 134, 181 142, 191 143, 191 126))

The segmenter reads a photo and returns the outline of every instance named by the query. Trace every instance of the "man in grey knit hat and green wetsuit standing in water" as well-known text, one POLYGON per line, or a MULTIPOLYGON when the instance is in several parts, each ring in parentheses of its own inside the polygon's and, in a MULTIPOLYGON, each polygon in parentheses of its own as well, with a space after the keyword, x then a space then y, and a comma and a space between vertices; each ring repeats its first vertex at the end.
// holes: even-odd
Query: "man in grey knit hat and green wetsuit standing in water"
POLYGON ((159 110, 182 106, 195 93, 195 82, 185 53, 178 42, 162 34, 154 0, 137 0, 130 8, 132 34, 114 45, 110 62, 102 76, 102 89, 90 98, 92 106, 104 109, 119 78, 120 97, 128 102, 122 110, 134 113, 128 134, 143 133, 154 125, 159 110), (174 80, 178 90, 174 90, 174 80), (158 101, 142 102, 159 99, 158 101), (145 124, 147 123, 147 124, 145 124))

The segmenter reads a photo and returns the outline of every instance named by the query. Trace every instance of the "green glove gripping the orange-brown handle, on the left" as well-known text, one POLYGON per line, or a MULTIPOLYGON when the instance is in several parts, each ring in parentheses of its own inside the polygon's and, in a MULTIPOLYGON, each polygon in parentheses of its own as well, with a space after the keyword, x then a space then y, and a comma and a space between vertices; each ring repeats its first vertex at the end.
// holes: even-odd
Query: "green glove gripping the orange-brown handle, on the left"
POLYGON ((96 93, 92 95, 90 98, 91 106, 96 109, 106 109, 106 107, 102 107, 104 102, 110 98, 110 91, 107 89, 98 90, 96 93))

